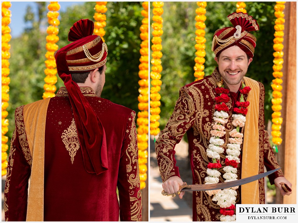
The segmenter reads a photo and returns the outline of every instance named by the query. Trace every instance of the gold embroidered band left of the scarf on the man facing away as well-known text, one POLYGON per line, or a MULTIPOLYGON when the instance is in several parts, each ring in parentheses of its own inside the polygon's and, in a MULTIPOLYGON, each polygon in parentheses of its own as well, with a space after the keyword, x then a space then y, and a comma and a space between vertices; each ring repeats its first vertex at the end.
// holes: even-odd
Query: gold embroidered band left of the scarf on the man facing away
POLYGON ((23 109, 24 109, 24 105, 20 106, 16 109, 16 117, 15 117, 16 129, 19 134, 20 145, 22 147, 22 151, 24 153, 25 159, 31 167, 32 166, 32 156, 30 153, 30 149, 29 149, 28 141, 27 141, 27 137, 26 137, 23 109))

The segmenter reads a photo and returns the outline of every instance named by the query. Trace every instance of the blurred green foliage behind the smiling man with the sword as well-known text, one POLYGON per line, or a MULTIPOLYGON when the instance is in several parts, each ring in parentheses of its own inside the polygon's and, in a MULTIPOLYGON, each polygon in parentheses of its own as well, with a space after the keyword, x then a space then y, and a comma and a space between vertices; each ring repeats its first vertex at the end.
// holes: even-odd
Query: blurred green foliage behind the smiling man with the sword
MULTIPOLYGON (((227 16, 236 11, 237 2, 207 2, 206 7, 206 56, 205 75, 212 74, 217 63, 211 51, 214 32, 222 27, 232 26, 227 16)), ((256 38, 255 56, 248 68, 247 77, 260 81, 265 86, 265 121, 272 114, 271 110, 271 80, 273 66, 273 34, 275 2, 245 2, 250 16, 257 20, 260 31, 252 32, 256 38)), ((152 18, 152 3, 151 3, 152 18)), ((161 113, 160 129, 165 127, 171 116, 179 88, 195 80, 193 67, 195 65, 195 10, 196 2, 164 2, 162 66, 161 80, 161 113)), ((153 21, 152 21, 153 22, 153 21)), ((151 28, 151 33, 153 29, 151 28)), ((152 35, 151 35, 152 38, 152 35)), ((151 58, 152 59, 152 58, 151 58)))

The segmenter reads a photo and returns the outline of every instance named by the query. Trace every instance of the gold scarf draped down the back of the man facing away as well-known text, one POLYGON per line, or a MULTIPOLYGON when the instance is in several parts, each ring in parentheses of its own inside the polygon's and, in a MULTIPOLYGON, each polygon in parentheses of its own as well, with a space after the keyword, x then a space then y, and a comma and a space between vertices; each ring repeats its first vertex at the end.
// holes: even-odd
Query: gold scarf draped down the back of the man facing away
POLYGON ((50 98, 24 106, 23 115, 32 156, 26 221, 43 221, 44 135, 50 98))

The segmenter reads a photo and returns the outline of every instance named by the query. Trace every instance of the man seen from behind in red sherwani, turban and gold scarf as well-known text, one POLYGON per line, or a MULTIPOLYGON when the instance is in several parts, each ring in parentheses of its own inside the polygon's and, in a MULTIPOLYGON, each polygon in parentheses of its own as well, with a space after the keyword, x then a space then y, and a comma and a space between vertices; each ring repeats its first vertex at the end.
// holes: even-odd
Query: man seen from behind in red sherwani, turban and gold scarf
POLYGON ((135 112, 100 97, 107 46, 93 29, 79 20, 55 52, 56 97, 16 109, 6 221, 142 220, 135 112))

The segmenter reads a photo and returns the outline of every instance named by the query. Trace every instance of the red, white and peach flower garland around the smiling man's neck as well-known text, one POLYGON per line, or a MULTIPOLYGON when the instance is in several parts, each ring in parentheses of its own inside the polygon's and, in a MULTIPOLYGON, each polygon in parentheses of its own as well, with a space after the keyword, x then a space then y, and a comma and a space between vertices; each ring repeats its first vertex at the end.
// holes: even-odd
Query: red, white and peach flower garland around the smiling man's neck
MULTIPOLYGON (((240 133, 240 127, 244 127, 247 114, 247 106, 249 105, 248 101, 244 100, 243 95, 247 95, 250 91, 250 87, 246 87, 242 83, 242 89, 240 90, 241 96, 240 100, 236 101, 236 108, 233 111, 236 114, 233 114, 233 126, 236 127, 233 129, 229 135, 227 149, 226 149, 226 158, 225 158, 225 167, 223 177, 226 179, 225 182, 237 180, 237 166, 240 163, 239 155, 241 150, 243 134, 240 133)), ((226 132, 224 125, 228 122, 228 106, 227 103, 230 98, 228 97, 229 90, 222 86, 222 82, 218 83, 218 87, 215 88, 215 92, 218 95, 215 97, 215 112, 214 112, 214 124, 212 126, 213 130, 210 131, 212 137, 210 138, 210 144, 206 150, 207 156, 212 158, 212 163, 208 163, 207 166, 207 175, 205 177, 205 184, 215 184, 219 182, 219 176, 221 175, 218 169, 222 167, 220 164, 220 155, 224 152, 224 149, 221 147, 224 145, 224 140, 220 139, 223 137, 226 132)), ((217 201, 217 204, 220 206, 220 221, 235 221, 235 203, 237 187, 224 189, 224 190, 209 190, 205 191, 208 195, 214 197, 213 201, 217 201)))

